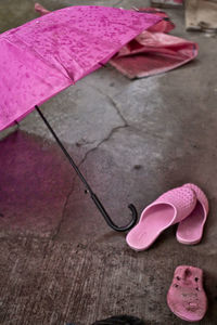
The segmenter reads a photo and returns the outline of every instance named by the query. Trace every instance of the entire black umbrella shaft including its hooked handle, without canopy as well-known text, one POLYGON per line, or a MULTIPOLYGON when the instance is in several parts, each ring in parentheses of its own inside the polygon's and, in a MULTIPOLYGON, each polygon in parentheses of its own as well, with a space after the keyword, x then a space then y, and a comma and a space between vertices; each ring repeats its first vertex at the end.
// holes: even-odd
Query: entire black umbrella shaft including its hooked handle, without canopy
POLYGON ((100 210, 101 214, 103 216, 103 218, 106 221, 106 223, 108 224, 108 226, 111 226, 113 230, 115 230, 117 232, 126 232, 126 231, 129 231, 130 229, 132 229, 132 226, 137 223, 137 218, 138 218, 138 213, 137 213, 136 207, 133 205, 131 205, 131 204, 128 206, 128 208, 131 210, 132 218, 131 218, 131 221, 127 225, 125 225, 125 226, 118 226, 118 225, 116 225, 112 221, 112 219, 110 218, 110 216, 107 214, 105 208, 103 207, 103 205, 100 202, 100 199, 98 198, 98 196, 93 193, 92 188, 90 187, 90 185, 88 184, 87 180, 82 176, 82 173, 79 170, 78 166, 75 164, 75 161, 73 160, 73 158, 71 157, 71 155, 68 154, 68 152, 66 151, 66 148, 64 147, 63 143, 60 141, 60 139, 55 134, 54 130, 51 128, 51 126, 48 122, 47 118, 43 116, 43 114, 41 113, 41 110, 39 109, 38 106, 35 106, 35 108, 38 112, 38 114, 40 115, 40 117, 42 118, 42 120, 44 121, 44 123, 48 127, 48 129, 50 130, 50 132, 52 133, 53 138, 58 142, 58 144, 61 147, 61 150, 63 151, 64 155, 67 157, 69 164, 73 166, 73 168, 77 172, 79 179, 85 184, 85 186, 87 188, 87 192, 90 193, 90 197, 94 202, 95 206, 100 210))

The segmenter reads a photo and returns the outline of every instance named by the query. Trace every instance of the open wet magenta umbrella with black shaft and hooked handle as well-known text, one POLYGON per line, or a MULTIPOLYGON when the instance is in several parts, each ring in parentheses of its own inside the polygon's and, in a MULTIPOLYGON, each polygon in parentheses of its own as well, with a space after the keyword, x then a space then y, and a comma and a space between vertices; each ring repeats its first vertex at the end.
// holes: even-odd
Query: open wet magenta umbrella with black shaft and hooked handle
POLYGON ((71 6, 49 13, 0 36, 0 130, 38 110, 91 198, 116 231, 90 185, 69 156, 38 105, 104 65, 123 46, 156 24, 156 15, 104 6, 71 6))

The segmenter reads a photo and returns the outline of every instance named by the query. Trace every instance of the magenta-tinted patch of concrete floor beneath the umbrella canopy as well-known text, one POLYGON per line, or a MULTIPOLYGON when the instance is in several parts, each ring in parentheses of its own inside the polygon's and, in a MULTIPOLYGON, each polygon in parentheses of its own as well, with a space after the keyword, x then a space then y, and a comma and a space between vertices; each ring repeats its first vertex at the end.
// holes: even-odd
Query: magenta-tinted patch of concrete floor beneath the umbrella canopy
POLYGON ((75 176, 56 144, 16 131, 0 157, 0 236, 55 233, 75 176))

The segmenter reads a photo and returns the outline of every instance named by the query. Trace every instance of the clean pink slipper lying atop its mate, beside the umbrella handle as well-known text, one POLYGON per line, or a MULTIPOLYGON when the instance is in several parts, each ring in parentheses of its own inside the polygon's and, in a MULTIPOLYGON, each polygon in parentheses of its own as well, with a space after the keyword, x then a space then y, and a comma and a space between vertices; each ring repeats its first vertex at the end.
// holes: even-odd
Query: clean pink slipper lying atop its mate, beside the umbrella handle
POLYGON ((166 192, 143 210, 139 223, 127 235, 127 244, 135 250, 149 248, 164 230, 187 218, 195 204, 195 193, 188 186, 166 192))

